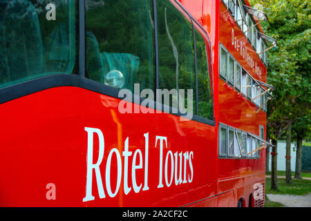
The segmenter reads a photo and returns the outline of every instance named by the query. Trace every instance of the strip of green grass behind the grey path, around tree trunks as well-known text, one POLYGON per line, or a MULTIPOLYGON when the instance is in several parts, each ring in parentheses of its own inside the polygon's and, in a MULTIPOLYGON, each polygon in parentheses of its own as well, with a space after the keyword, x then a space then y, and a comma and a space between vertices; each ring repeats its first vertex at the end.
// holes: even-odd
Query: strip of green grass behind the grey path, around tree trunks
POLYGON ((265 193, 307 195, 311 192, 311 180, 293 179, 292 184, 287 184, 284 178, 278 179, 278 190, 271 190, 271 179, 265 179, 265 193))

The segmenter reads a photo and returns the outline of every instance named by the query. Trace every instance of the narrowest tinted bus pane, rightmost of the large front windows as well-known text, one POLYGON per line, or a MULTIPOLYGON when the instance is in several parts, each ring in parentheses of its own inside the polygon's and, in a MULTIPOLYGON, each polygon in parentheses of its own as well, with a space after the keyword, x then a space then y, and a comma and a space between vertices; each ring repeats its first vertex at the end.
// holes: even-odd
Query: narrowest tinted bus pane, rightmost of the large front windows
POLYGON ((209 74, 209 66, 207 65, 205 40, 198 30, 196 30, 196 64, 198 73, 198 115, 212 119, 211 75, 209 74))

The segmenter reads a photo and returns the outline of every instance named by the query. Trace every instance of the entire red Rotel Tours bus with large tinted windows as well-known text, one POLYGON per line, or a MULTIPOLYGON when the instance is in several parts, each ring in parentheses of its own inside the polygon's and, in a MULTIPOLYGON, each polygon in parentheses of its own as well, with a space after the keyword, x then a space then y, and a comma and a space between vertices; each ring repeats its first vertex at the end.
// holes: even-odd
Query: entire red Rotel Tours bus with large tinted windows
POLYGON ((263 206, 266 43, 243 5, 0 1, 0 205, 263 206))

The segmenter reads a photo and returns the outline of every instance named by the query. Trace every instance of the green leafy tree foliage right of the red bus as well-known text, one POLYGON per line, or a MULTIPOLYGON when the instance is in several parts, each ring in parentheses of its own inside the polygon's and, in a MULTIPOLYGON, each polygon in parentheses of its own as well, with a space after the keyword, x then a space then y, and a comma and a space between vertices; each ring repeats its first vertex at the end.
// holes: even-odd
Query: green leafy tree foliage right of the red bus
POLYGON ((267 83, 275 88, 269 102, 267 125, 272 139, 281 137, 294 123, 303 136, 310 133, 310 34, 311 4, 308 0, 252 0, 261 3, 270 22, 262 22, 267 35, 279 46, 268 53, 267 83))

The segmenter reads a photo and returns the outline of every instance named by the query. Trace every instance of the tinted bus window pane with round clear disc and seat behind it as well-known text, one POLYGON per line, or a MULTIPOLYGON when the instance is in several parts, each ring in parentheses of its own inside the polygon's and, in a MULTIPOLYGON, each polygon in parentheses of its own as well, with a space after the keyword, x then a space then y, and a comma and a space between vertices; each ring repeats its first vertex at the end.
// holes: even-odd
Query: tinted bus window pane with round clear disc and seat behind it
POLYGON ((155 87, 151 0, 86 0, 87 77, 133 92, 155 87), (126 15, 126 16, 124 16, 126 15))

